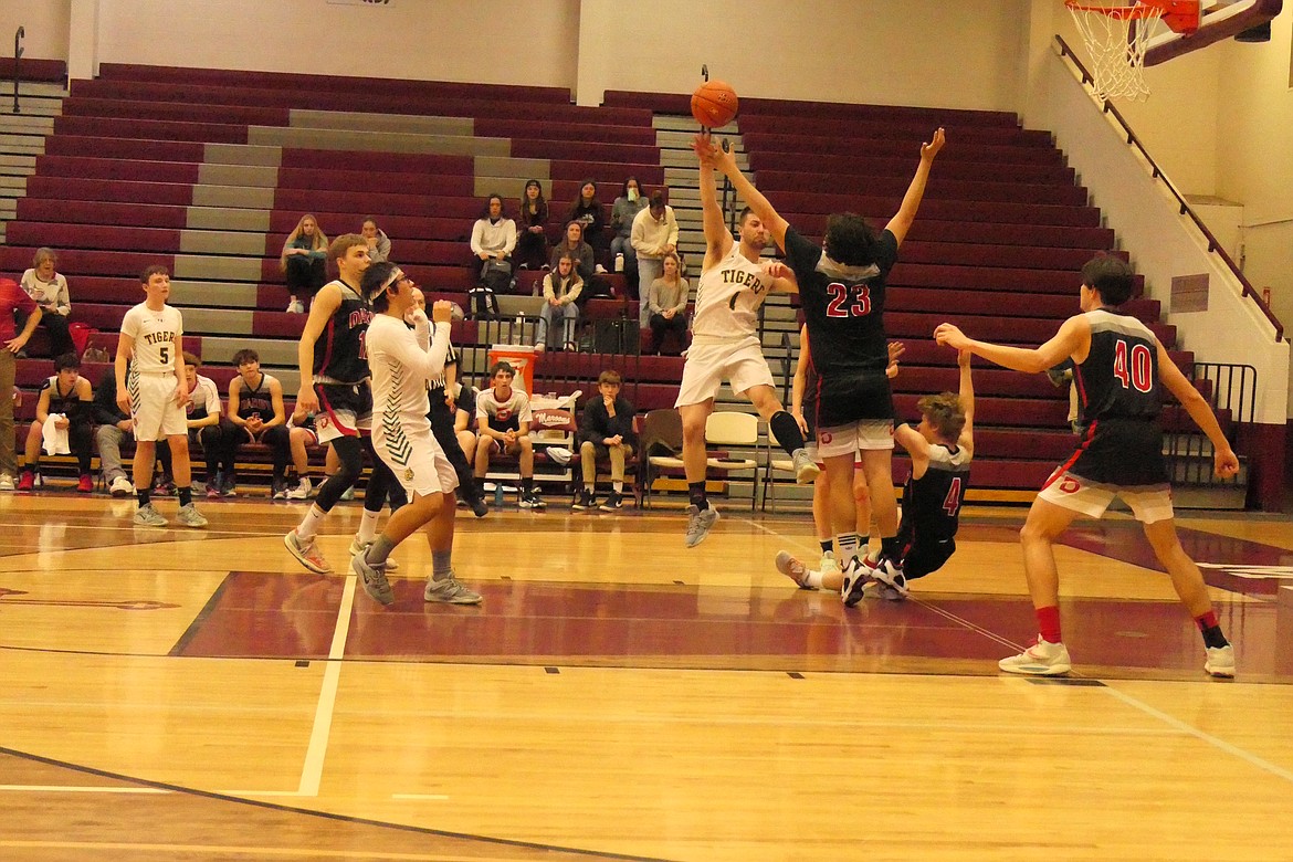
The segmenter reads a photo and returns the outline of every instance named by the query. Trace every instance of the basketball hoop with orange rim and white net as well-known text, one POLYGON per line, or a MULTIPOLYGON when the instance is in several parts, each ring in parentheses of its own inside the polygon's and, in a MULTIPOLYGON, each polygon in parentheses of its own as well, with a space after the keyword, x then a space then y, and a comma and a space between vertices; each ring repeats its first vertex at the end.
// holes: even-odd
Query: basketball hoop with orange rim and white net
POLYGON ((1161 21, 1174 32, 1199 28, 1199 0, 1133 0, 1121 6, 1089 6, 1065 0, 1091 56, 1096 98, 1143 101, 1144 53, 1155 26, 1161 21))

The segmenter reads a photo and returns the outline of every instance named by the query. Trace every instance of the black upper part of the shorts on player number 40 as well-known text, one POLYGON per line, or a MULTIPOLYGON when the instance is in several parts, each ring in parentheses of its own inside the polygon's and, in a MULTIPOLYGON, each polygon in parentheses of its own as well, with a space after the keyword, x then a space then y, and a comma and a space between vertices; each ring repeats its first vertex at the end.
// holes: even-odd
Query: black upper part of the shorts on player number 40
POLYGON ((1153 419, 1093 421, 1077 452, 1062 467, 1089 482, 1140 487, 1168 483, 1162 428, 1153 419))

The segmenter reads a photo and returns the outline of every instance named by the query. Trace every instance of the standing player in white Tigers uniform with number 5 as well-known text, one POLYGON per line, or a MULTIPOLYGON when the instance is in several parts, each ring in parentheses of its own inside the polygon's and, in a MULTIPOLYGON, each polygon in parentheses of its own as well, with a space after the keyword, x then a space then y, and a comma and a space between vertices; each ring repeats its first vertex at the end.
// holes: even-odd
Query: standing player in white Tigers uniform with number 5
POLYGON ((171 273, 166 266, 149 266, 140 280, 147 299, 125 313, 116 341, 116 406, 129 412, 134 421, 132 470, 140 501, 134 523, 147 527, 167 523, 149 499, 156 441, 166 439, 180 496, 177 521, 186 527, 204 527, 207 520, 193 505, 189 423, 184 412, 189 403, 189 381, 180 349, 184 319, 177 309, 166 304, 171 296, 171 273))

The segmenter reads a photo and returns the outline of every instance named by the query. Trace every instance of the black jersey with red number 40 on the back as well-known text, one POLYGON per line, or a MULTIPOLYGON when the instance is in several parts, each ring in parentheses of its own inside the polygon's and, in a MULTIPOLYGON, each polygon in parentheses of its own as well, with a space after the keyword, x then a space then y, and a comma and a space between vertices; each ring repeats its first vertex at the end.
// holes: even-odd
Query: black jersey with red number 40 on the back
POLYGON ((1159 340, 1140 321, 1106 309, 1087 311, 1091 350, 1073 383, 1082 421, 1155 419, 1161 407, 1159 340))

